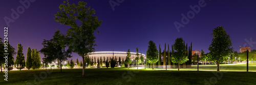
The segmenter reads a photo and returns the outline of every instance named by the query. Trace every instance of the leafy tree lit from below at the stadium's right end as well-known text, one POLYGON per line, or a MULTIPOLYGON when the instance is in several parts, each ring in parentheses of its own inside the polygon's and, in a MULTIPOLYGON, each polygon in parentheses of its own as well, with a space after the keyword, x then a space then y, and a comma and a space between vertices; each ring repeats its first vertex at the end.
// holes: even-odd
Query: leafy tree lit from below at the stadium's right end
POLYGON ((158 50, 156 44, 153 41, 148 42, 146 55, 148 60, 147 62, 151 63, 153 65, 152 69, 154 69, 154 63, 158 61, 158 50))

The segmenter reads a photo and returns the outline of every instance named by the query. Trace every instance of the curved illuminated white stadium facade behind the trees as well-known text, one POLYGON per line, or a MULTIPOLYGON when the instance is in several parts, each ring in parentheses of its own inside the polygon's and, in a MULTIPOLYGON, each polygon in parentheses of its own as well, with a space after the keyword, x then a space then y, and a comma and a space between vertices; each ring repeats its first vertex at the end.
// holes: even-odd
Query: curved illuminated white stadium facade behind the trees
MULTIPOLYGON (((131 57, 130 57, 130 59, 132 60, 132 59, 135 59, 136 58, 136 53, 137 52, 130 52, 131 53, 131 57)), ((141 53, 139 53, 139 54, 141 54, 141 53)), ((116 58, 121 58, 121 60, 123 59, 123 60, 125 60, 125 58, 126 58, 126 55, 127 55, 127 53, 126 52, 124 52, 124 51, 96 51, 96 52, 91 52, 91 53, 89 53, 89 57, 90 58, 100 58, 100 57, 115 57, 116 56, 116 58)), ((139 55, 140 56, 140 55, 139 55)), ((142 56, 143 56, 143 58, 145 58, 145 54, 143 54, 142 53, 142 56)))

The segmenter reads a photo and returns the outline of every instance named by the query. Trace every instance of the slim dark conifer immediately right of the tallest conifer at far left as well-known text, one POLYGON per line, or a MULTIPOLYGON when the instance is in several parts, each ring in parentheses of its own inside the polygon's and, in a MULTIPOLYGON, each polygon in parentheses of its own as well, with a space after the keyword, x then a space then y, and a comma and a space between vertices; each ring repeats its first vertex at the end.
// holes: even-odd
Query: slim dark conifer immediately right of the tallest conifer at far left
POLYGON ((33 66, 33 64, 32 64, 32 58, 31 58, 31 49, 30 49, 30 47, 28 47, 26 68, 30 69, 32 66, 33 66))

